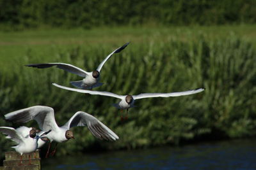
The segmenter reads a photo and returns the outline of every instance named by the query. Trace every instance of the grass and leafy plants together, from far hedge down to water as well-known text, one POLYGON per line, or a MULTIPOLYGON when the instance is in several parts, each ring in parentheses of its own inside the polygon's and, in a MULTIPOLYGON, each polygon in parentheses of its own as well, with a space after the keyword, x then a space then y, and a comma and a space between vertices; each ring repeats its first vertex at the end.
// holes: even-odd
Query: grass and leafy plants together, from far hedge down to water
MULTIPOLYGON (((113 129, 115 143, 99 141, 86 127, 74 128, 76 140, 61 145, 57 155, 105 150, 180 145, 207 139, 255 137, 256 25, 182 27, 103 27, 34 29, 0 32, 0 124, 10 111, 51 106, 56 121, 67 122, 86 111, 113 129), (116 94, 175 92, 205 87, 193 96, 143 99, 128 120, 111 107, 109 97, 61 90, 79 80, 60 69, 34 69, 25 64, 66 62, 93 70, 108 53, 131 41, 102 67, 102 87, 116 94), (129 81, 130 83, 125 83, 129 81), (153 106, 152 106, 153 104, 153 106)), ((36 126, 35 122, 26 125, 36 126)), ((1 157, 12 143, 1 135, 1 157)), ((44 152, 45 147, 43 148, 44 152)))

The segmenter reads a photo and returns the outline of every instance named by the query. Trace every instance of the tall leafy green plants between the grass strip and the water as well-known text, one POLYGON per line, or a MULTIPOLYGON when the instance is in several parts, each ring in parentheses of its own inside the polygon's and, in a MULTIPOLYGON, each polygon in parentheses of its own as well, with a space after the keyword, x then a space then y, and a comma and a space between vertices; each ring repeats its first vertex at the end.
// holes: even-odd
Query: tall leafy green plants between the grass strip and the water
MULTIPOLYGON (((99 141, 86 127, 76 127, 73 129, 76 139, 61 144, 65 147, 59 148, 58 155, 83 152, 93 146, 132 149, 179 145, 205 134, 216 138, 219 134, 228 138, 255 136, 256 55, 250 43, 233 34, 217 40, 201 35, 189 42, 170 38, 162 43, 131 43, 115 54, 102 67, 104 85, 95 90, 140 94, 206 89, 191 96, 138 100, 138 107, 129 110, 129 118, 124 122, 120 121, 120 111, 111 106, 117 99, 70 92, 51 85, 56 82, 70 87, 69 81, 81 80, 80 77, 56 68, 24 66, 66 62, 92 71, 113 49, 112 45, 77 46, 60 50, 47 61, 40 52, 32 56, 28 51, 22 62, 13 62, 8 67, 8 73, 0 72, 1 115, 46 105, 54 108, 56 121, 62 125, 81 110, 99 118, 120 137, 116 142, 99 141)), ((3 119, 0 121, 1 125, 13 126, 3 119)), ((26 125, 36 126, 33 121, 26 125)), ((2 138, 1 134, 0 145, 4 146, 0 148, 1 153, 10 149, 6 146, 8 140, 2 138)))

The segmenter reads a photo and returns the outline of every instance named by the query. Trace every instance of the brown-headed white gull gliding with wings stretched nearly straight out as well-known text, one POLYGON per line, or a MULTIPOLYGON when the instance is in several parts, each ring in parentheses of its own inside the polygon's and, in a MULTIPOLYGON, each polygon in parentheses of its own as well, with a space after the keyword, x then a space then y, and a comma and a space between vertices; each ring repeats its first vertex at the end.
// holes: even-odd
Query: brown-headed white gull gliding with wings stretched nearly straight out
MULTIPOLYGON (((184 91, 184 92, 171 92, 171 93, 143 93, 143 94, 139 94, 139 95, 118 95, 118 94, 114 94, 111 92, 100 92, 100 91, 92 91, 92 90, 82 90, 82 89, 74 89, 74 88, 70 88, 70 87, 65 87, 62 85, 58 85, 56 83, 52 83, 52 85, 59 87, 61 89, 66 89, 66 90, 71 90, 74 92, 80 92, 80 93, 85 93, 85 94, 92 94, 92 95, 100 95, 100 96, 110 96, 110 97, 115 97, 118 99, 121 99, 121 101, 119 103, 113 104, 113 106, 115 106, 118 109, 121 110, 127 110, 129 108, 133 108, 134 107, 134 102, 136 99, 143 99, 143 98, 148 98, 148 97, 177 97, 177 96, 186 96, 186 95, 190 95, 190 94, 196 94, 199 92, 204 91, 204 88, 198 88, 195 90, 188 90, 188 91, 184 91)), ((126 112, 126 115, 127 115, 126 112)), ((127 117, 125 117, 127 118, 127 117)))

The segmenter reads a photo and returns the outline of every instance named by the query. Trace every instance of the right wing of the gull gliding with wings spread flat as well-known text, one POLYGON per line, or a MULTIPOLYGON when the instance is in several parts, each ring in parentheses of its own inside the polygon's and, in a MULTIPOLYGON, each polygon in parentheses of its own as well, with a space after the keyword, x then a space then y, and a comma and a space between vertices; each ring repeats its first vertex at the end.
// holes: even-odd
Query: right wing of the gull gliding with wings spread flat
POLYGON ((186 96, 190 94, 196 94, 202 91, 204 91, 204 88, 188 90, 184 92, 172 92, 172 93, 143 93, 139 95, 132 95, 132 97, 134 100, 148 98, 148 97, 177 97, 177 96, 186 96))

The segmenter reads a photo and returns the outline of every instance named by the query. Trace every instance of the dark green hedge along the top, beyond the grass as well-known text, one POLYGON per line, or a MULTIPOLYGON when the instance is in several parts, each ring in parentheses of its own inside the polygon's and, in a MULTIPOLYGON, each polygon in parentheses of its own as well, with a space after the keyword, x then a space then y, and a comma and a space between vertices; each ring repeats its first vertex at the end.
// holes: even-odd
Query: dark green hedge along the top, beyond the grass
POLYGON ((0 0, 1 29, 255 23, 255 0, 0 0))

